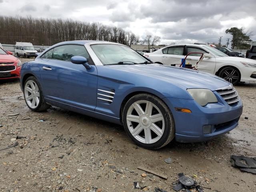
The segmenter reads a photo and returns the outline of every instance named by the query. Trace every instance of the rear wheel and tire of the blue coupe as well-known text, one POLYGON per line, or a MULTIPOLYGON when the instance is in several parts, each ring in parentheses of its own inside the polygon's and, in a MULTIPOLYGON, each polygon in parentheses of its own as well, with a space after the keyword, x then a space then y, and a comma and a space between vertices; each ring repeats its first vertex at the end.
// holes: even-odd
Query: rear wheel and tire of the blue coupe
POLYGON ((26 79, 24 84, 24 99, 28 108, 32 111, 45 111, 50 107, 44 101, 42 88, 34 76, 26 79))

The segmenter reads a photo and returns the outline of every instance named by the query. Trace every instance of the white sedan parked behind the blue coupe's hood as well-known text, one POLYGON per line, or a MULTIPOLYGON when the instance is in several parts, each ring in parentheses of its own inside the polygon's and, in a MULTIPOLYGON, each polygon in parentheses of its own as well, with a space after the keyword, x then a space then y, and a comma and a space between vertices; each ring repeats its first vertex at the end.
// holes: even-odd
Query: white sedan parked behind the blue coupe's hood
MULTIPOLYGON (((198 64, 199 71, 215 74, 234 85, 238 84, 238 82, 256 81, 256 61, 240 57, 229 57, 208 45, 172 45, 144 56, 155 63, 175 65, 181 64, 181 60, 189 52, 210 54, 211 58, 204 58, 204 60, 198 64)), ((189 62, 194 66, 200 56, 201 54, 190 54, 186 59, 186 64, 189 62)))

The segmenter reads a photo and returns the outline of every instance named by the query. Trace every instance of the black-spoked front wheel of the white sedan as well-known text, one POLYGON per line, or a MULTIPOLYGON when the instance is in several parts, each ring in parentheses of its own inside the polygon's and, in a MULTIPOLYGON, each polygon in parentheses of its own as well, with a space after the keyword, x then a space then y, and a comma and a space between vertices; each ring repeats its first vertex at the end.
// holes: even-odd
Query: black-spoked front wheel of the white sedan
POLYGON ((223 68, 219 73, 219 77, 232 83, 233 85, 238 84, 241 79, 239 70, 231 66, 223 68))

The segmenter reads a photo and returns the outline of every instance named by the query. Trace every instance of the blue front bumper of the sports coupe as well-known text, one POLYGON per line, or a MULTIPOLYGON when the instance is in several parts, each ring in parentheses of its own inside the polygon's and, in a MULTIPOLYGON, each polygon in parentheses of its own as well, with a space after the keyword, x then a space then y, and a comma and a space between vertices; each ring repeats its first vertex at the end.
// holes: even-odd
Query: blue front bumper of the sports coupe
POLYGON ((194 100, 164 98, 174 117, 176 141, 202 142, 223 135, 238 126, 243 108, 242 100, 230 106, 220 96, 217 98, 218 103, 204 107, 194 100), (176 112, 175 107, 190 109, 192 113, 176 112), (204 134, 204 126, 211 127, 209 134, 204 134))

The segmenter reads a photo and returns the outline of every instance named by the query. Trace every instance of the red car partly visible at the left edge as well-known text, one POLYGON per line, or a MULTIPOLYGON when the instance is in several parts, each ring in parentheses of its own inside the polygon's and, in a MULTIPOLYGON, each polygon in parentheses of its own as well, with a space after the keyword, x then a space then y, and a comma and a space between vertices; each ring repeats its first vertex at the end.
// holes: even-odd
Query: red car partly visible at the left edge
POLYGON ((22 62, 12 52, 0 48, 0 80, 20 78, 22 62))

